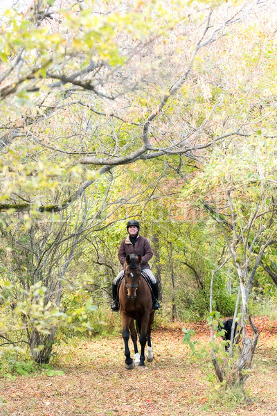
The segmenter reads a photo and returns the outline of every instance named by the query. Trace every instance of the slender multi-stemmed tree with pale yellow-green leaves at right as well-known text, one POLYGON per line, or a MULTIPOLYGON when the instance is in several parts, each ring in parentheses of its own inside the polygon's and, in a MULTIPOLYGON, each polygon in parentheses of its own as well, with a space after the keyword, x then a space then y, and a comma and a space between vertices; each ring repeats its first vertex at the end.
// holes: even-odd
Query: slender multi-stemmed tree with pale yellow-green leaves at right
MULTIPOLYGON (((238 361, 231 364, 229 383, 243 384, 249 375, 246 370, 251 367, 258 342, 258 330, 249 313, 249 293, 262 257, 277 241, 276 181, 273 179, 277 166, 276 160, 268 157, 272 146, 275 146, 274 140, 259 137, 255 144, 251 139, 244 139, 229 146, 227 152, 218 149, 214 151, 211 164, 191 184, 194 191, 205 194, 212 206, 211 211, 228 247, 222 266, 233 261, 240 282, 242 350, 238 361), (247 336, 246 322, 251 326, 253 338, 247 336)), ((213 327, 211 331, 213 336, 213 327)), ((217 376, 223 381, 229 363, 220 369, 214 350, 213 363, 217 376)))

